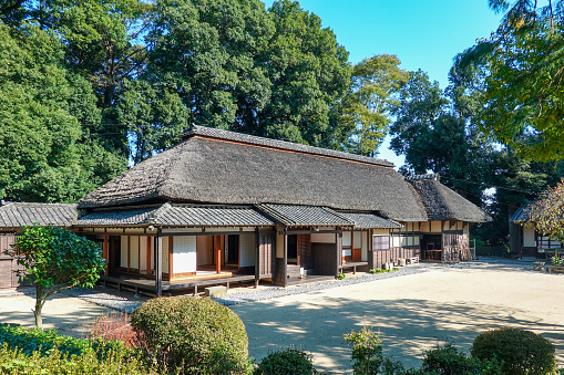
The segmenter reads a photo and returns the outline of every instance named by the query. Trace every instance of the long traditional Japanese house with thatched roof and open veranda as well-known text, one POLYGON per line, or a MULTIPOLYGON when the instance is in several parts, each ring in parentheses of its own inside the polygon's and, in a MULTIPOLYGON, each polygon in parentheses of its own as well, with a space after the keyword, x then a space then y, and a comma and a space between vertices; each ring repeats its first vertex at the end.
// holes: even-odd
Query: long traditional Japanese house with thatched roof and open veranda
POLYGON ((400 258, 466 258, 489 217, 387 160, 193 126, 185 139, 79 202, 74 229, 101 241, 104 280, 197 288, 334 278, 400 258))

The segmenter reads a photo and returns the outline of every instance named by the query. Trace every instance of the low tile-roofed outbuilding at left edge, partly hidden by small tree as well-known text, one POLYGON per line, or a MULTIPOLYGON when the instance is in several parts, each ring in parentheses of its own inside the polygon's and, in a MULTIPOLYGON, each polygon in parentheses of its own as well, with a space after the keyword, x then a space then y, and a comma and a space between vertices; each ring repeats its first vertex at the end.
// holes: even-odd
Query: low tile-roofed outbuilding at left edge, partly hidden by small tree
POLYGON ((17 260, 4 254, 23 226, 51 225, 70 228, 76 219, 76 205, 22 204, 0 201, 0 289, 19 285, 17 260))

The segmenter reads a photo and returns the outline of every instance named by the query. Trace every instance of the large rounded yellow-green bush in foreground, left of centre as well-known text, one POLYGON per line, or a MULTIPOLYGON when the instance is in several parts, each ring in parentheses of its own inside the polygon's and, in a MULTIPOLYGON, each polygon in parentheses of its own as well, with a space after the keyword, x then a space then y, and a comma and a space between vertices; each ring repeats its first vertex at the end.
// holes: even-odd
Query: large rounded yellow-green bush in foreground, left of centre
POLYGON ((211 299, 148 300, 134 311, 131 324, 144 358, 161 368, 182 374, 243 373, 247 368, 245 325, 211 299))

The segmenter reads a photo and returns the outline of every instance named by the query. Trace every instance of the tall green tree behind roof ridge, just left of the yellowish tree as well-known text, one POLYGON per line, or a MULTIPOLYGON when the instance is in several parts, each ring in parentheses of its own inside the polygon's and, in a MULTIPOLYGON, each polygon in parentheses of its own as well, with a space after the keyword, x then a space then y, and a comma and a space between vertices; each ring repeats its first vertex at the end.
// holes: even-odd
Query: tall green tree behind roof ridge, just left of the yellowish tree
POLYGON ((350 85, 348 52, 321 27, 320 18, 297 1, 275 1, 269 13, 275 23, 268 50, 273 87, 258 116, 259 135, 330 145, 336 132, 331 110, 350 85))

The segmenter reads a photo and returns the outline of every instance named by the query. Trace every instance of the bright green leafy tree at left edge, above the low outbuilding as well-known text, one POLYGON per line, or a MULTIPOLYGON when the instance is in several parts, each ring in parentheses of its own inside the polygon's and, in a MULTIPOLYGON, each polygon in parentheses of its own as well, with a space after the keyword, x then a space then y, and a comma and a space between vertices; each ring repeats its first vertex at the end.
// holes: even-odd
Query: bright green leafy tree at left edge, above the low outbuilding
POLYGON ((95 96, 62 66, 57 37, 0 23, 0 197, 73 202, 115 176, 124 160, 82 136, 95 96))

